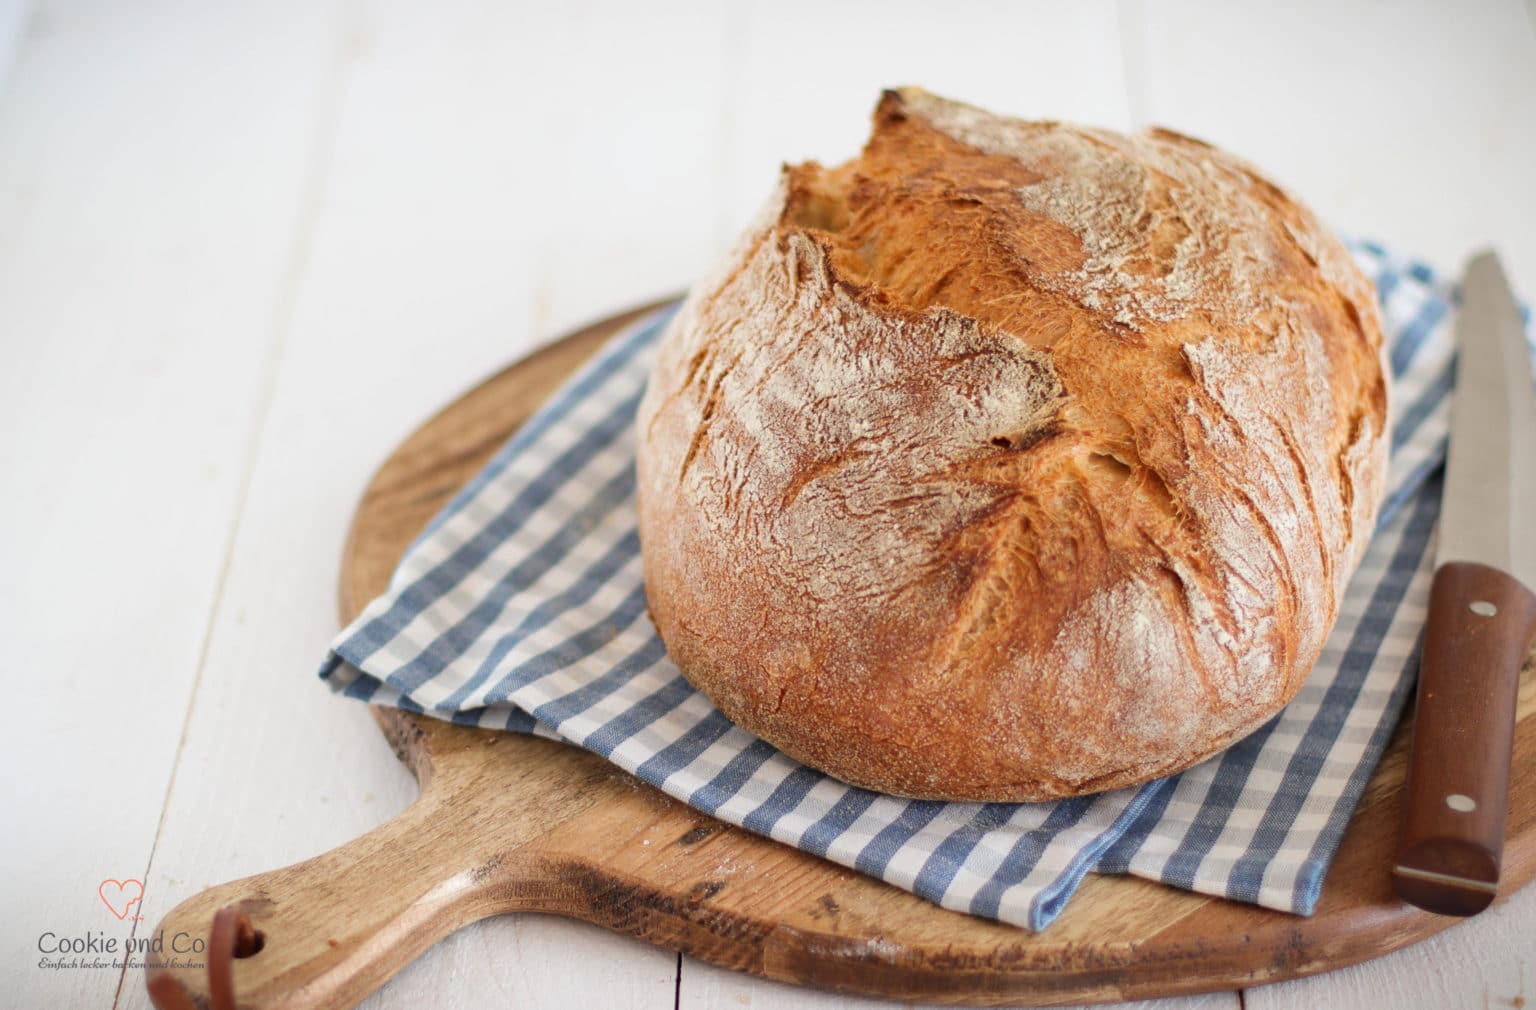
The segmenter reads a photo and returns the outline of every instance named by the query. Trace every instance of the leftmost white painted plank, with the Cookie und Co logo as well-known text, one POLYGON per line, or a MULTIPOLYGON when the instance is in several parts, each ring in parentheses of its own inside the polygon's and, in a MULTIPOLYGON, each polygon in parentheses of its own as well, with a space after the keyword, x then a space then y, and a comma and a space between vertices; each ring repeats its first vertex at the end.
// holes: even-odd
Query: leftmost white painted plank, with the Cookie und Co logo
POLYGON ((0 992, 106 1005, 45 932, 121 939, 275 344, 324 5, 72 5, 0 103, 0 992), (272 74, 281 66, 283 74, 272 74))

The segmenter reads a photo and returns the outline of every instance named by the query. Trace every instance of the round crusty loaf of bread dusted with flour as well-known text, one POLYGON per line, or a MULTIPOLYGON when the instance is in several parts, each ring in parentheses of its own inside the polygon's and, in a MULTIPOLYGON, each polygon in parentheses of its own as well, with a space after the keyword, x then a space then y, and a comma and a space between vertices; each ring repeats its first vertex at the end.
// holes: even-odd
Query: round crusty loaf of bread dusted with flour
POLYGON ((1232 155, 902 89, 785 167, 637 434, 651 617, 731 720, 882 792, 1069 797, 1301 686, 1381 497, 1381 324, 1232 155))

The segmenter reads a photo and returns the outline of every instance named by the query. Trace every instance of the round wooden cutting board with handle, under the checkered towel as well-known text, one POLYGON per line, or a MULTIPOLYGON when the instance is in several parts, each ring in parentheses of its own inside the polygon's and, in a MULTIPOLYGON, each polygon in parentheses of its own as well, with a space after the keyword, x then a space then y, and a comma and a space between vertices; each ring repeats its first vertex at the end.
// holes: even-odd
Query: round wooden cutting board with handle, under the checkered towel
MULTIPOLYGON (((651 309, 508 367, 395 450, 353 519, 343 622, 384 591, 407 543, 544 398, 651 309)), ((206 967, 197 958, 170 964, 170 952, 149 956, 158 1007, 350 1007, 439 938, 507 912, 587 919, 786 982, 977 1005, 1256 985, 1366 961, 1456 923, 1390 892, 1404 728, 1313 916, 1091 875, 1054 926, 1028 933, 716 821, 571 746, 396 709, 373 715, 421 798, 339 849, 174 909, 158 929, 207 938, 209 950, 206 967)), ((1536 876, 1530 658, 1514 748, 1505 895, 1536 876)))

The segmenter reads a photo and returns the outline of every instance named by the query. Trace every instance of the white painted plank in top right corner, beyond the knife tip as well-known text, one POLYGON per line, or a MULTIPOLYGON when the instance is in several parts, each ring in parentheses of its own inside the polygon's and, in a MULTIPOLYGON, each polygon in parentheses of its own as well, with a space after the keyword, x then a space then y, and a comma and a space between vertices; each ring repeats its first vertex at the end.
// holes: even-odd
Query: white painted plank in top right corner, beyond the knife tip
POLYGON ((1536 298, 1536 29, 1521 0, 1124 9, 1146 120, 1441 269, 1493 243, 1536 298))

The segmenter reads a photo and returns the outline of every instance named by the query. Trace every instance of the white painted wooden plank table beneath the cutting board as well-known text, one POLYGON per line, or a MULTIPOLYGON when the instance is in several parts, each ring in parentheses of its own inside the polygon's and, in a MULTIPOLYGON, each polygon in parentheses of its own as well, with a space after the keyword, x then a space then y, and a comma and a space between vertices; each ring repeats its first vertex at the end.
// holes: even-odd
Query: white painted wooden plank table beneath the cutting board
MULTIPOLYGON (((573 324, 688 284, 882 86, 1164 123, 1341 232, 1536 295, 1536 6, 0 0, 0 1002, 146 1007, 147 932, 413 783, 315 666, 370 470, 573 324), (1238 9, 1238 8, 1244 9, 1238 9)), ((1327 976, 1154 1004, 1518 1007, 1536 889, 1327 976)), ((370 1007, 874 1005, 582 924, 465 929, 370 1007)))

